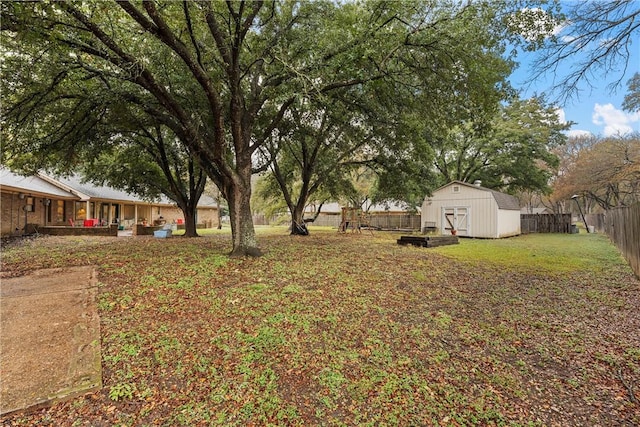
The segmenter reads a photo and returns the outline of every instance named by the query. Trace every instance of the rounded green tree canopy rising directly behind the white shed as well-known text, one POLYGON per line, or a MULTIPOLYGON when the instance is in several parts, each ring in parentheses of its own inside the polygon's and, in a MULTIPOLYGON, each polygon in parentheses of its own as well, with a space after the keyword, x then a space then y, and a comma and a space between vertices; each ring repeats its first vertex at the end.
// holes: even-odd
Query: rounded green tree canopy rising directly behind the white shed
POLYGON ((543 99, 514 99, 488 123, 463 123, 436 141, 434 164, 443 183, 481 180, 510 193, 548 192, 558 165, 551 149, 564 143, 569 126, 543 99))

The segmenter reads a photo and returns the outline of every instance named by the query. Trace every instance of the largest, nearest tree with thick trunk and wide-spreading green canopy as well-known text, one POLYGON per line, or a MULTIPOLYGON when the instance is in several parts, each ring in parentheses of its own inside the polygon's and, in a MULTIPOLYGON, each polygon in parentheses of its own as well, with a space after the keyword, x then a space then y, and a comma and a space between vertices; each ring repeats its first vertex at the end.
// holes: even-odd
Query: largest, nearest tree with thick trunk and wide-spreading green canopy
POLYGON ((228 200, 233 254, 258 255, 254 158, 296 102, 418 69, 463 77, 461 41, 499 44, 529 3, 2 2, 2 160, 70 168, 165 126, 228 200))

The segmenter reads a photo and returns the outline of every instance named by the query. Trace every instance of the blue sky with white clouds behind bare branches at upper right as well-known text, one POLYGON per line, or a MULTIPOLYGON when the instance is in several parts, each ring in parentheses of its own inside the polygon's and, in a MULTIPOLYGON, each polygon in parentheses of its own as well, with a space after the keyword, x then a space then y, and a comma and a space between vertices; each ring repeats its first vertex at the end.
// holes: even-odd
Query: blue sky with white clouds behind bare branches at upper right
MULTIPOLYGON (((569 135, 590 132, 594 135, 609 136, 640 132, 640 113, 628 113, 622 110, 622 102, 627 93, 627 82, 635 72, 640 71, 640 35, 635 37, 629 50, 631 57, 624 75, 621 71, 614 70, 609 75, 600 75, 597 79, 592 79, 591 84, 581 82, 579 96, 573 97, 564 104, 558 104, 561 119, 576 122, 568 132, 569 135), (607 86, 619 79, 621 75, 623 75, 622 85, 612 92, 607 86)), ((544 92, 548 100, 555 101, 559 94, 551 92, 554 85, 552 73, 532 81, 534 70, 531 64, 536 55, 535 52, 518 55, 516 61, 520 66, 511 75, 511 84, 521 90, 523 98, 544 92)), ((579 53, 572 59, 579 61, 584 55, 579 53)), ((569 62, 559 64, 560 75, 556 78, 561 78, 571 65, 569 62)), ((622 64, 619 68, 623 68, 622 64)))

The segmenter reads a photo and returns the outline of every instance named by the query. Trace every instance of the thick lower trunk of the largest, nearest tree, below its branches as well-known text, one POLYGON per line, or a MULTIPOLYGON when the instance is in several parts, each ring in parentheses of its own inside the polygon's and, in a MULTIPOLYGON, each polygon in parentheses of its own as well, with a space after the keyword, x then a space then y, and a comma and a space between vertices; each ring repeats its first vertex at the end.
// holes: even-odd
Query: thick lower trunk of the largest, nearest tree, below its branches
POLYGON ((229 216, 231 218, 231 236, 233 240, 232 257, 262 255, 258 248, 256 232, 251 217, 251 174, 246 180, 234 180, 227 191, 229 216))

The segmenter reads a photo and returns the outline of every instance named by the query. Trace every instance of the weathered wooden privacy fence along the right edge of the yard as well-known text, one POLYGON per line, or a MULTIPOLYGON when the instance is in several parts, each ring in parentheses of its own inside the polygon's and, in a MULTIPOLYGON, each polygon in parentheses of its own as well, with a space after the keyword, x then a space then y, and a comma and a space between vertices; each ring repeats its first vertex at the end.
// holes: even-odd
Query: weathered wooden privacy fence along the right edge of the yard
POLYGON ((604 216, 604 231, 640 278, 640 203, 609 209, 604 216))

